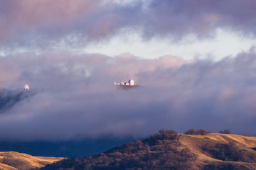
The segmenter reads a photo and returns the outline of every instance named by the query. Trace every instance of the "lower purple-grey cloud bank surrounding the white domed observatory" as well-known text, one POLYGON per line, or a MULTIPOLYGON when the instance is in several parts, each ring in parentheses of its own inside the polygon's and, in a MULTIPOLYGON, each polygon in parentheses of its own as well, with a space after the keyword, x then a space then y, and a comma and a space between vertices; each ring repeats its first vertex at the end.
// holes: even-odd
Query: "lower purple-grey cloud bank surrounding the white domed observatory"
POLYGON ((254 47, 219 62, 129 54, 1 57, 9 66, 1 86, 28 83, 38 91, 0 115, 1 140, 145 137, 161 128, 255 135, 255 59, 254 47), (113 85, 131 78, 141 87, 113 85))

